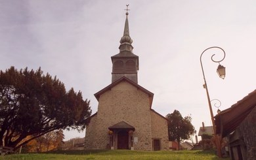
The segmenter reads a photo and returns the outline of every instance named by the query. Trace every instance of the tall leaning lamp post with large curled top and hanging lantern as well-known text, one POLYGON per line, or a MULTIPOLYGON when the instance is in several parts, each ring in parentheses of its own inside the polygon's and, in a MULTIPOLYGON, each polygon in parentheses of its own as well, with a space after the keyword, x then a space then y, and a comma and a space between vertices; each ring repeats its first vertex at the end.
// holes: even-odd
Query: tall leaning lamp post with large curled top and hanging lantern
MULTIPOLYGON (((212 49, 212 48, 217 48, 217 49, 220 49, 223 51, 223 54, 224 54, 224 57, 223 59, 225 58, 226 54, 223 50, 223 48, 220 48, 218 46, 212 46, 212 47, 209 47, 207 49, 205 49, 201 56, 200 56, 200 63, 201 63, 201 67, 202 67, 202 71, 203 71, 203 64, 202 64, 202 55, 205 51, 209 50, 209 49, 212 49)), ((217 68, 217 73, 219 75, 220 78, 224 79, 225 78, 225 67, 223 67, 223 65, 220 64, 221 61, 223 61, 223 59, 221 59, 220 61, 215 61, 213 59, 213 57, 215 56, 215 54, 213 54, 213 56, 211 56, 211 60, 215 63, 219 63, 219 66, 217 68)), ((215 126, 215 121, 214 121, 214 117, 213 117, 213 109, 211 107, 211 100, 210 100, 210 97, 209 97, 209 91, 208 91, 208 88, 207 88, 207 83, 206 83, 206 80, 205 80, 205 74, 204 74, 204 71, 203 71, 203 80, 204 80, 204 84, 203 84, 203 88, 206 89, 206 94, 207 94, 207 100, 208 100, 208 104, 209 104, 209 110, 210 110, 210 113, 211 113, 211 121, 213 123, 213 133, 214 133, 214 137, 215 137, 215 144, 216 144, 216 148, 217 148, 217 155, 218 157, 222 157, 222 154, 221 154, 221 141, 219 140, 219 136, 216 134, 216 126, 215 126)))

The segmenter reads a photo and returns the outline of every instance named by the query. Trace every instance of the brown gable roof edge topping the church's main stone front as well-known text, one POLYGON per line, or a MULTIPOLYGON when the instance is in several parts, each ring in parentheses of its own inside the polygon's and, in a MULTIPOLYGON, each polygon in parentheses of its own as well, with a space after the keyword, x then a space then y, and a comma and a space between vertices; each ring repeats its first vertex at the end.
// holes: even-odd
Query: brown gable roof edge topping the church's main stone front
POLYGON ((97 93, 95 93, 95 97, 97 100, 100 99, 100 95, 102 95, 103 93, 105 93, 106 91, 110 90, 111 88, 113 88, 114 86, 116 86, 117 84, 121 83, 121 82, 128 82, 129 84, 135 86, 137 89, 140 89, 141 91, 143 91, 144 93, 148 94, 148 97, 150 99, 150 108, 152 106, 152 101, 153 101, 153 97, 154 97, 154 93, 148 91, 145 88, 142 88, 142 86, 140 86, 139 84, 133 82, 132 80, 129 80, 128 78, 126 78, 125 76, 123 76, 122 78, 119 78, 118 80, 116 80, 115 82, 113 82, 112 84, 106 86, 106 88, 101 89, 100 91, 98 91, 97 93))

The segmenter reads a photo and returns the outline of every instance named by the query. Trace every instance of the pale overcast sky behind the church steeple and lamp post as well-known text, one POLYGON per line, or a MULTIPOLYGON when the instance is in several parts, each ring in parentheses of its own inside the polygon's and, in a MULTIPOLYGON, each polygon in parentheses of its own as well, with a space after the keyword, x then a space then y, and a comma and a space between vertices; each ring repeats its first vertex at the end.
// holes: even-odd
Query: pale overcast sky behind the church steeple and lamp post
MULTIPOLYGON (((66 89, 82 91, 95 113, 94 93, 111 83, 110 57, 119 53, 127 4, 139 85, 154 93, 156 112, 191 115, 197 131, 202 121, 211 125, 200 65, 211 46, 226 52, 224 80, 211 61, 222 52, 211 49, 202 57, 209 95, 221 101, 220 110, 256 89, 253 0, 0 0, 0 70, 41 67, 66 89)), ((84 135, 65 131, 65 140, 84 135)))

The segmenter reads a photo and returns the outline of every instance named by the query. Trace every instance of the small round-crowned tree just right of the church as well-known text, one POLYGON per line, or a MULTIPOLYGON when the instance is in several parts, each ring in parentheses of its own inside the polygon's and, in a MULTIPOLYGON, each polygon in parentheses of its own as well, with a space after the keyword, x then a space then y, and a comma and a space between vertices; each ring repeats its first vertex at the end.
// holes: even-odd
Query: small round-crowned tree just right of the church
MULTIPOLYGON (((194 135, 195 129, 191 124, 192 118, 190 116, 185 116, 182 118, 181 113, 178 110, 174 110, 172 114, 167 114, 168 120, 168 135, 169 140, 177 140, 180 144, 181 140, 186 140, 194 135)), ((178 145, 179 150, 179 145, 178 145)))

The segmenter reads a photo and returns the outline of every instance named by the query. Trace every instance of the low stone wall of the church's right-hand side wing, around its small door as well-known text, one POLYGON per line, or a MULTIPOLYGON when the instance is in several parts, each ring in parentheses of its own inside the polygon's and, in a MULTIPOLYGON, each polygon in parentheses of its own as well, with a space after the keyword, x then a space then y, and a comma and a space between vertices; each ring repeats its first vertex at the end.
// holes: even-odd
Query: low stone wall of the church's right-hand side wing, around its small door
POLYGON ((151 111, 152 139, 159 138, 161 150, 169 150, 167 120, 151 111))

